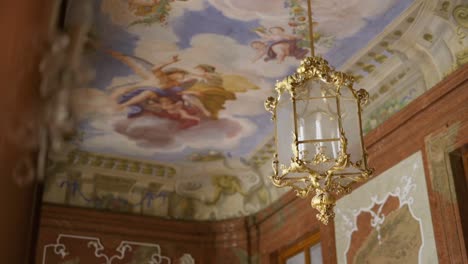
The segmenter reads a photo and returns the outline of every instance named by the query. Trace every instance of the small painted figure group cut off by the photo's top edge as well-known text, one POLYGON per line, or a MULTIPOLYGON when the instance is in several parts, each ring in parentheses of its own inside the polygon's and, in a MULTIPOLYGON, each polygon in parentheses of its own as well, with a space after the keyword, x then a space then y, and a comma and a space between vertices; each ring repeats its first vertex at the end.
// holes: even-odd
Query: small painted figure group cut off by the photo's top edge
POLYGON ((141 19, 133 21, 130 25, 153 23, 166 24, 167 17, 171 10, 171 2, 188 0, 127 0, 128 10, 135 16, 141 19))

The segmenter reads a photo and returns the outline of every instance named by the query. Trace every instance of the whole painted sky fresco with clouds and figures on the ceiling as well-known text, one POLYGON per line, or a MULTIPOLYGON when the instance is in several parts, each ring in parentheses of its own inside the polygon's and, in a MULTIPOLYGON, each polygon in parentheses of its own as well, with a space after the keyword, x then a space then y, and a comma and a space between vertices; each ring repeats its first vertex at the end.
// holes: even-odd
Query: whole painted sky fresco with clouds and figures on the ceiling
MULTIPOLYGON (((411 0, 313 1, 316 49, 343 64, 411 0)), ((248 158, 271 138, 263 100, 309 55, 302 0, 96 0, 96 80, 76 91, 75 144, 190 162, 248 158)))

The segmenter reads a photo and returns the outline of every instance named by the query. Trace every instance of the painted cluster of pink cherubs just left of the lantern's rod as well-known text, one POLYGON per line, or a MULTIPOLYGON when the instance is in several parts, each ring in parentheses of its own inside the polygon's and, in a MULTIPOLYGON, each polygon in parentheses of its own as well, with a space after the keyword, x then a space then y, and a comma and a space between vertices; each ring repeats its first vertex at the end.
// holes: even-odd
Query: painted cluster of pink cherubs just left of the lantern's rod
POLYGON ((278 63, 282 63, 286 57, 295 57, 301 60, 309 52, 299 47, 300 37, 286 33, 282 27, 271 27, 268 31, 261 27, 255 29, 255 33, 261 39, 250 43, 250 46, 257 51, 257 55, 252 62, 256 62, 261 58, 264 58, 264 61, 277 60, 278 63))

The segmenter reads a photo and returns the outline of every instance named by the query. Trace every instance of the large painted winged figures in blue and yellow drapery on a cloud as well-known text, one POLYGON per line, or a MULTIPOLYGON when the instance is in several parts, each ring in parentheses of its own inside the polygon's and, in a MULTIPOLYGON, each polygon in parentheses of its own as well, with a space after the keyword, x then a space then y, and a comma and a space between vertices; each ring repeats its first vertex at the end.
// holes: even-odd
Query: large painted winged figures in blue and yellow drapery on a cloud
POLYGON ((220 74, 207 64, 197 65, 194 72, 167 68, 179 61, 178 56, 155 66, 142 58, 108 52, 142 79, 111 88, 111 98, 118 109, 128 109, 128 118, 150 114, 176 120, 187 129, 204 119, 218 119, 225 102, 235 100, 236 93, 258 89, 240 75, 220 74))

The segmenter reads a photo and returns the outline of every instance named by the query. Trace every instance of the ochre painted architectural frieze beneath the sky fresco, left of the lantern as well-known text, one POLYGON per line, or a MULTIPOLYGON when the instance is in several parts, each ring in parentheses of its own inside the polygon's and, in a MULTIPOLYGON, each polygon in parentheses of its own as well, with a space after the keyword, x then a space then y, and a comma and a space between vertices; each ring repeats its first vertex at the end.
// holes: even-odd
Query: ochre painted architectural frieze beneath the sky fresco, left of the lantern
POLYGON ((43 199, 170 219, 216 220, 253 214, 285 191, 272 188, 265 175, 241 160, 220 153, 192 158, 200 163, 197 170, 71 149, 49 161, 43 199), (207 168, 212 174, 206 175, 207 168), (176 176, 184 170, 182 175, 189 177, 176 176))

